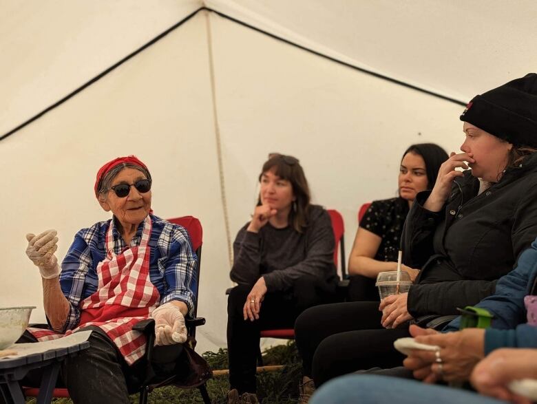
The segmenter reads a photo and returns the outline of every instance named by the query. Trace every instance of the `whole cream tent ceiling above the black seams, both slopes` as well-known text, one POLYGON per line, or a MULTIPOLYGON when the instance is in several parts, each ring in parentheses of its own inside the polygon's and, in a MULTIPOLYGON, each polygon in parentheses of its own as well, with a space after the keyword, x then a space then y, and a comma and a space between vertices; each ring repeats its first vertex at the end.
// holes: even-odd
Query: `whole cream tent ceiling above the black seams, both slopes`
POLYGON ((0 134, 202 6, 462 101, 537 66, 533 0, 0 0, 0 134))

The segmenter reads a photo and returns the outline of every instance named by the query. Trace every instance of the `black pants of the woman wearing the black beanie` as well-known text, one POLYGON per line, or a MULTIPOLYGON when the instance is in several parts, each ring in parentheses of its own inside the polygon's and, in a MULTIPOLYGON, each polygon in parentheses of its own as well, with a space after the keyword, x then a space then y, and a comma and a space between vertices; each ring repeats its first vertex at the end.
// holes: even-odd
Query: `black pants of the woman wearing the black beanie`
POLYGON ((393 342, 408 328, 381 326, 379 302, 326 304, 305 310, 295 323, 295 339, 304 374, 318 387, 343 374, 370 368, 394 368, 404 357, 393 342))

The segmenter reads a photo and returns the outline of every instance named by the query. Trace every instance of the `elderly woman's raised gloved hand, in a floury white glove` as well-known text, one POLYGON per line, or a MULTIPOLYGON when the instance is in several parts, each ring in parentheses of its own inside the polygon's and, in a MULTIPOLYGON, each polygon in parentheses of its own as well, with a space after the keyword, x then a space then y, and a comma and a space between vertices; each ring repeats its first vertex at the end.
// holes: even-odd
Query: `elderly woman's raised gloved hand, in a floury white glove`
POLYGON ((26 235, 26 240, 28 240, 26 255, 39 268, 41 277, 45 279, 58 277, 61 272, 58 259, 54 255, 58 249, 58 237, 56 237, 56 234, 55 230, 47 230, 40 235, 32 233, 26 235))

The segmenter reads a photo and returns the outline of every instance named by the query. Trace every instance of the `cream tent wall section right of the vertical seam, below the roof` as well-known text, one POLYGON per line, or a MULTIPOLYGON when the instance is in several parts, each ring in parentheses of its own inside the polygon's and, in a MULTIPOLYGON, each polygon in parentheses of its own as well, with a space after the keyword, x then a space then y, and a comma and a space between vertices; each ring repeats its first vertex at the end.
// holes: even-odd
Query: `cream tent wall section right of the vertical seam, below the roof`
POLYGON ((350 253, 357 209, 397 193, 403 151, 457 151, 463 107, 320 59, 211 14, 218 120, 233 236, 272 151, 299 158, 313 200, 339 210, 350 253))

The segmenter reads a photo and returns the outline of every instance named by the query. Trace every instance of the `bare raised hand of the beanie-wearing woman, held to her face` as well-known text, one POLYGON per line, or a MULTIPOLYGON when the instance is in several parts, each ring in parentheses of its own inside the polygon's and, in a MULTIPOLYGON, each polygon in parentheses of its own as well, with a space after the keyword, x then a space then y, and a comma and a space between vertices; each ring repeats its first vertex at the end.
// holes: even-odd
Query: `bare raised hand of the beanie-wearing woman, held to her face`
POLYGON ((450 158, 445 160, 440 166, 436 184, 434 184, 434 188, 432 189, 429 198, 423 205, 425 209, 432 212, 441 211, 442 206, 444 206, 445 201, 448 200, 450 196, 453 180, 456 177, 463 176, 463 172, 457 169, 468 169, 467 162, 476 162, 472 153, 450 153, 450 158))

